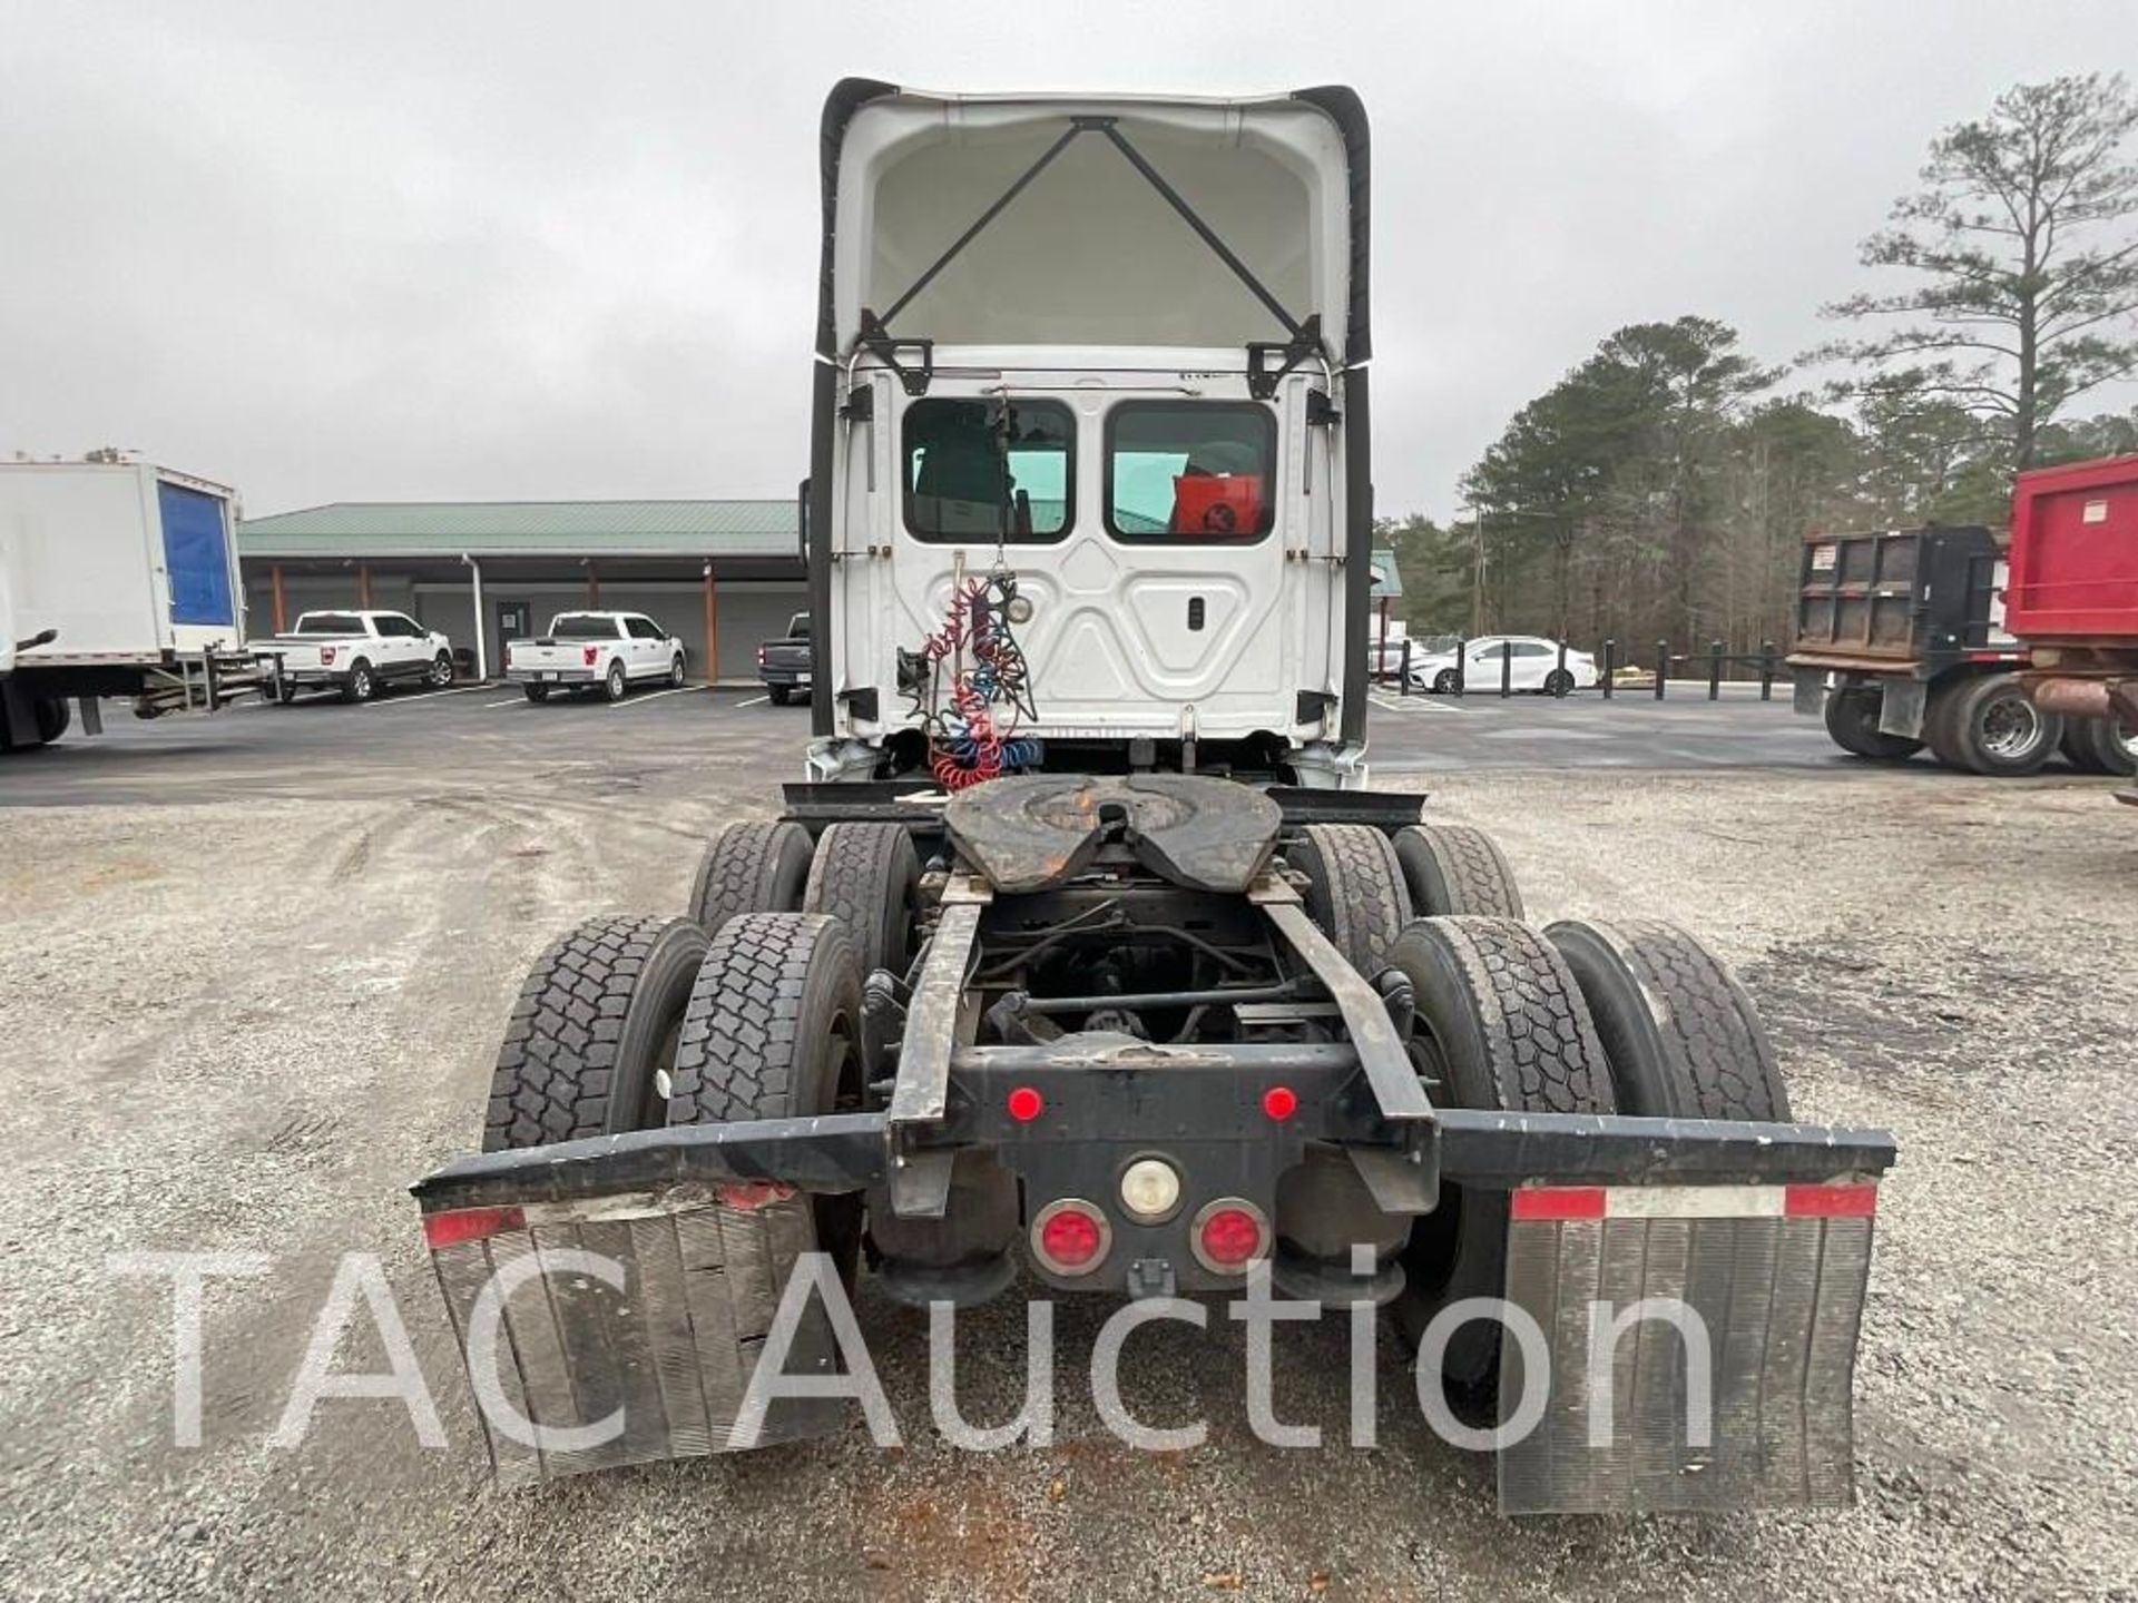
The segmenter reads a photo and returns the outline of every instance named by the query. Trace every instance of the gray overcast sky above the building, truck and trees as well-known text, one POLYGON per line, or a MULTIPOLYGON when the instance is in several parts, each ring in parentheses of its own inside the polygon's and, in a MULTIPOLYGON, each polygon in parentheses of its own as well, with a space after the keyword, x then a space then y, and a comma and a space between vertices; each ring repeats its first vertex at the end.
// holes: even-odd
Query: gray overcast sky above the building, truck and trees
POLYGON ((1343 81, 1375 130, 1379 507, 1447 515, 1614 327, 1700 312, 1794 355, 1931 135, 2114 68, 2132 0, 0 0, 0 455, 130 447, 252 515, 787 496, 836 77, 1343 81))

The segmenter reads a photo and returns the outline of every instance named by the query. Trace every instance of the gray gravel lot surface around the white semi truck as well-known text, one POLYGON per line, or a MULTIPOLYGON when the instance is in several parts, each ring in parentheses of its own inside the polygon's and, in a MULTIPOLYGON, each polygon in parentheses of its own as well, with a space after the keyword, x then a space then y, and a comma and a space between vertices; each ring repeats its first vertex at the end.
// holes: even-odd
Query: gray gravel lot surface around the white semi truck
MULTIPOLYGON (((413 799, 24 808, 0 855, 0 1592, 41 1597, 2138 1597, 2138 816, 2102 787, 1914 769, 1462 774, 1539 919, 1672 917, 1742 972, 1800 1116, 1888 1124, 1841 1515, 1492 1513, 1385 1353, 1375 1451, 1257 1445, 1238 1325, 1137 1336, 1129 1400, 1210 1419, 1140 1456, 1058 1319, 1056 1445, 928 1428, 926 1327, 864 1287, 904 1428, 496 1494, 400 1186, 466 1150, 549 934, 680 906, 761 778, 599 763, 413 799), (520 789, 520 795, 534 791, 520 789), (207 1293, 203 1445, 171 1445, 169 1297, 128 1250, 261 1252, 207 1293), (445 1411, 327 1400, 267 1443, 344 1252, 372 1252, 445 1411)), ((1400 780, 1398 780, 1400 782, 1400 780)), ((1422 782, 1422 780, 1420 780, 1422 782)), ((321 780, 325 789, 325 780, 321 780)), ((370 1321, 357 1319, 357 1332, 370 1321)), ((1341 1441, 1343 1325, 1285 1329, 1279 1406, 1341 1441)), ((1022 1314, 973 1314, 969 1417, 1022 1398, 1022 1314)), ((376 1366, 353 1338, 342 1368, 376 1366)))

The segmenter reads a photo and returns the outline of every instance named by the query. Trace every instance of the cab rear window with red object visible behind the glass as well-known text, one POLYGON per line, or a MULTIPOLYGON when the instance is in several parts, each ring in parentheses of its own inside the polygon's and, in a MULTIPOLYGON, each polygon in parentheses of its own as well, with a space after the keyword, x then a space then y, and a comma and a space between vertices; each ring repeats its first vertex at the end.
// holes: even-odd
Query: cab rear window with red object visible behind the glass
POLYGON ((1122 402, 1105 419, 1105 526, 1122 541, 1259 541, 1276 524, 1276 419, 1255 402, 1122 402))

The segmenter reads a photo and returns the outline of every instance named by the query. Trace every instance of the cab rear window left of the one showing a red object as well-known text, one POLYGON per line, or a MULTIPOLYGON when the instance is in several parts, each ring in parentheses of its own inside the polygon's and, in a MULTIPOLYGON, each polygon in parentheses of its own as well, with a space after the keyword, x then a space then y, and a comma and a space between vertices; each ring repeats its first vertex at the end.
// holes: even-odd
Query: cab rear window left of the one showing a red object
POLYGON ((1075 417, 1050 400, 917 400, 907 528, 924 541, 1054 541, 1075 515, 1075 417))

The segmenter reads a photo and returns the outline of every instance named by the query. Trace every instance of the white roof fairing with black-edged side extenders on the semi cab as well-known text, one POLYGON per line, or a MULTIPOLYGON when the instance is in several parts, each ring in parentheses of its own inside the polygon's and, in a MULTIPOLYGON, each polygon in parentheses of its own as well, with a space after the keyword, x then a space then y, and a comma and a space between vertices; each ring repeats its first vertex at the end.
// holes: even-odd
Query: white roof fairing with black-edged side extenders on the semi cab
MULTIPOLYGON (((909 393, 960 359, 1246 374, 1257 395, 1289 370, 1326 374, 1345 423, 1343 564, 1366 571, 1368 135, 1351 90, 949 96, 845 79, 823 109, 821 175, 808 507, 819 618, 832 613, 836 408, 864 357, 909 393)), ((1366 586, 1349 583, 1345 635, 1364 631, 1366 586)), ((830 686, 830 631, 817 654, 830 686)), ((1362 740, 1362 660, 1347 663, 1341 703, 1343 740, 1362 740)), ((832 695, 812 707, 815 733, 830 735, 832 695)))

